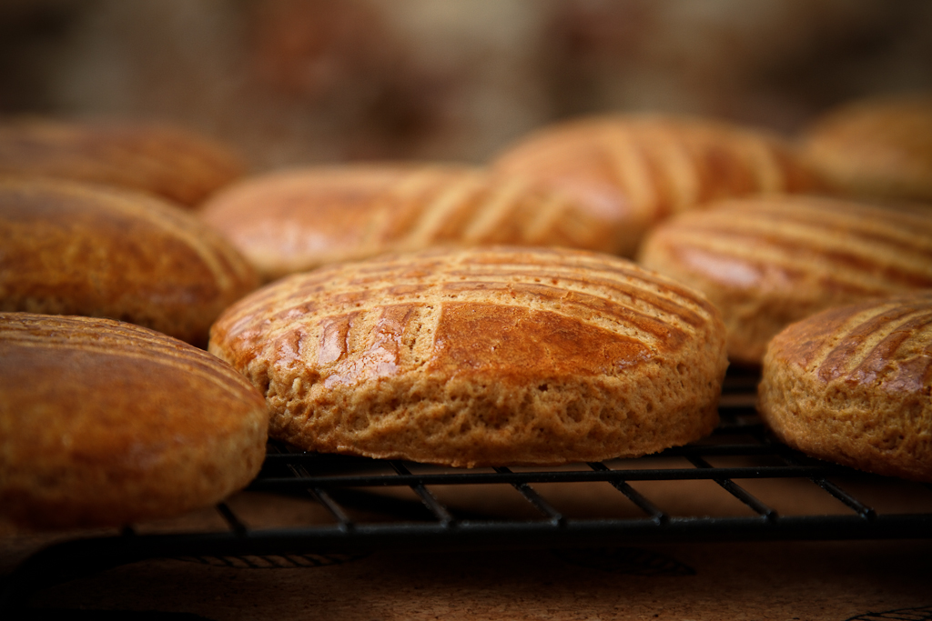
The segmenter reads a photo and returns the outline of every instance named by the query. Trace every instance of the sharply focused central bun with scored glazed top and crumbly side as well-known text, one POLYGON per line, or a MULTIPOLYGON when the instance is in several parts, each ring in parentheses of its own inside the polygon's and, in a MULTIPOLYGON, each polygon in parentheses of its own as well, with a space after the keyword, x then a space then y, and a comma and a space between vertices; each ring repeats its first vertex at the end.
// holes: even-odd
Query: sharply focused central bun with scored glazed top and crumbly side
POLYGON ((265 393, 269 435, 448 466, 658 452, 715 427, 718 311, 583 250, 424 250, 282 278, 210 350, 265 393))

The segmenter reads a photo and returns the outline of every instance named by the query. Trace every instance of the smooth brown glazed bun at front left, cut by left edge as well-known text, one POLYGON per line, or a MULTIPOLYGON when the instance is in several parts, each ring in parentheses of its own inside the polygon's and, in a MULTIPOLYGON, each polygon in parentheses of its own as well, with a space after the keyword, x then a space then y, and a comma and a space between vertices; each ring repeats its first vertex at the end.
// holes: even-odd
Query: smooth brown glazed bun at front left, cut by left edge
POLYGON ((164 334, 0 313, 0 516, 21 527, 211 506, 258 473, 267 420, 239 373, 164 334))

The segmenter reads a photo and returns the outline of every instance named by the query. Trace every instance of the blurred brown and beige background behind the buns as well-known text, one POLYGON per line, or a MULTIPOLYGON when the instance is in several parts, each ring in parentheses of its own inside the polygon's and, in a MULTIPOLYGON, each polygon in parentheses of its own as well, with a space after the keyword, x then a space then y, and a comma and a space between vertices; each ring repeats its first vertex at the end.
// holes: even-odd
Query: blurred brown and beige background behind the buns
POLYGON ((932 89, 929 0, 0 0, 0 115, 169 120, 254 169, 481 162, 574 115, 792 133, 932 89))

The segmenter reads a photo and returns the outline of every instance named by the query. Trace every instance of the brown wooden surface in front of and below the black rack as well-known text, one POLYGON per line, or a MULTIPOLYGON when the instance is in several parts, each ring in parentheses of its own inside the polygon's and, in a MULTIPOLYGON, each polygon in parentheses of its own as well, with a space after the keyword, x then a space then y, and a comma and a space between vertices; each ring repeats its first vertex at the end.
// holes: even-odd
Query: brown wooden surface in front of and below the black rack
POLYGON ((151 560, 45 589, 30 606, 218 620, 873 619, 906 610, 893 618, 918 620, 932 618, 930 552, 928 542, 860 542, 651 546, 570 556, 383 552, 295 569, 151 560))

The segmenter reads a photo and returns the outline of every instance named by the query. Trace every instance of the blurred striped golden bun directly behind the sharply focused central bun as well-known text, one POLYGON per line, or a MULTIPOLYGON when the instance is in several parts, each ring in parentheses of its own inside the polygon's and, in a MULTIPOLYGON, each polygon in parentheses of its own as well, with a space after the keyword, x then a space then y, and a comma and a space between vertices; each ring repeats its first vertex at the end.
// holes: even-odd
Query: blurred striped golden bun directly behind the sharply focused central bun
POLYGON ((231 186, 200 213, 268 280, 436 245, 611 251, 618 226, 532 182, 414 163, 273 172, 231 186))

